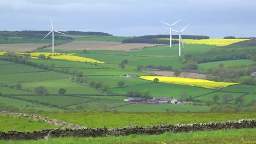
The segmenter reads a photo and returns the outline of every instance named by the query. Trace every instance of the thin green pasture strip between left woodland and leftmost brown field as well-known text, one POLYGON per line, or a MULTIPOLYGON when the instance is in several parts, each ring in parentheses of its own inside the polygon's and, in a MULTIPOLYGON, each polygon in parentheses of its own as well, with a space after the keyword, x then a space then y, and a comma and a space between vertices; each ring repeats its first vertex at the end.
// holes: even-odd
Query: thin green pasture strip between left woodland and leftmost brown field
MULTIPOLYGON (((10 40, 0 40, 0 44, 25 44, 25 43, 34 43, 34 44, 52 44, 52 39, 10 39, 10 40)), ((55 39, 54 43, 66 43, 66 40, 55 39)))

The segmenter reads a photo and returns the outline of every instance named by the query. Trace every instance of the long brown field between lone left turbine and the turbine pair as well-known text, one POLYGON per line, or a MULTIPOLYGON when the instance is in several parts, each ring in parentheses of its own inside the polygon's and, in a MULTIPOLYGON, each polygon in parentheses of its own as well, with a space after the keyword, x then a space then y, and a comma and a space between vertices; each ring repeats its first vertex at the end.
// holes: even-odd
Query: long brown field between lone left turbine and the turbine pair
MULTIPOLYGON (((144 46, 150 47, 158 44, 122 44, 114 41, 73 41, 63 45, 55 46, 58 50, 131 50, 142 49, 144 46)), ((48 47, 47 49, 51 49, 48 47)))

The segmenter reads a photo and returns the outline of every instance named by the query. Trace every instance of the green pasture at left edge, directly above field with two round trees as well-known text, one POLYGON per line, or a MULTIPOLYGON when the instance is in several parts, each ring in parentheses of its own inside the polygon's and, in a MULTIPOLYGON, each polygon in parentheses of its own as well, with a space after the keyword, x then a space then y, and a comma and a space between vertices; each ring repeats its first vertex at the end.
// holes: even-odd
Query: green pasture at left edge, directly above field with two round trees
POLYGON ((71 77, 71 75, 55 73, 53 71, 45 72, 35 72, 35 73, 19 73, 19 74, 1 74, 0 80, 2 83, 17 83, 36 81, 40 83, 43 80, 56 80, 56 79, 66 79, 71 77))

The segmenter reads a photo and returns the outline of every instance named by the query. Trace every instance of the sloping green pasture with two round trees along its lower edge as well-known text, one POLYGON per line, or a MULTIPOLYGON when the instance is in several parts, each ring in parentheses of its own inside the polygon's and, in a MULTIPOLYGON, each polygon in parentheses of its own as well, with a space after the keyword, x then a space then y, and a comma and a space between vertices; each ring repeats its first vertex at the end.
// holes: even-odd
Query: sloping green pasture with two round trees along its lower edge
POLYGON ((102 94, 95 88, 74 83, 71 79, 32 81, 21 83, 22 88, 34 91, 34 88, 44 86, 49 94, 59 94, 59 89, 66 89, 66 94, 102 94))

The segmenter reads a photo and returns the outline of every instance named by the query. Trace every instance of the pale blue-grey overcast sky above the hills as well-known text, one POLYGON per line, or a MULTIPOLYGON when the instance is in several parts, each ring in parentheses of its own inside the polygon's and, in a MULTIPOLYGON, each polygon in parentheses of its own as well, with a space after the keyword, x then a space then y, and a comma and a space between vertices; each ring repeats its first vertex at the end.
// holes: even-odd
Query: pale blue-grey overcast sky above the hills
POLYGON ((183 34, 256 37, 254 0, 0 0, 0 31, 97 31, 120 36, 183 34))

